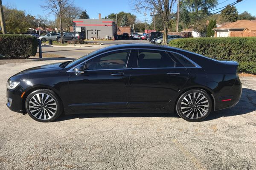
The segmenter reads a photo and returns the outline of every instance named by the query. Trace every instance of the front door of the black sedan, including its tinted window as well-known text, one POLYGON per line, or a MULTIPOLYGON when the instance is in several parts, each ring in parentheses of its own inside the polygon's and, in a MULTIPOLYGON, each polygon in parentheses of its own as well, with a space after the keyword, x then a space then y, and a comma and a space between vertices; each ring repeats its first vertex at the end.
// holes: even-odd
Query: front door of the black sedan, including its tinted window
POLYGON ((86 62, 84 74, 70 73, 72 110, 127 108, 127 68, 131 50, 101 54, 86 62))

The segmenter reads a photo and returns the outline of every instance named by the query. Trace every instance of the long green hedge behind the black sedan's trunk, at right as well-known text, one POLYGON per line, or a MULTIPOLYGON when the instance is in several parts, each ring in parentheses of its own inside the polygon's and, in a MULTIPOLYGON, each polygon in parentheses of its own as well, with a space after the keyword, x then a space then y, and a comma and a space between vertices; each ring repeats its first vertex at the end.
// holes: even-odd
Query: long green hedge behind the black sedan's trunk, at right
POLYGON ((256 74, 256 37, 183 38, 169 42, 207 57, 239 62, 239 72, 256 74))

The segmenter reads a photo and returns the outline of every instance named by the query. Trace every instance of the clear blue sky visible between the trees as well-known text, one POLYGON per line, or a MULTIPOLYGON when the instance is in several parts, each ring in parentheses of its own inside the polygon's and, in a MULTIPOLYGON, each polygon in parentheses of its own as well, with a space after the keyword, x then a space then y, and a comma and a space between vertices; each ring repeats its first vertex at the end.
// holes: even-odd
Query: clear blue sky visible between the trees
MULTIPOLYGON (((46 0, 2 0, 3 5, 15 6, 19 10, 26 11, 26 14, 32 14, 37 16, 38 14, 47 15, 49 12, 44 11, 41 8, 41 4, 44 4, 46 0)), ((236 0, 218 0, 219 5, 216 8, 221 8, 236 0)), ((90 18, 98 19, 98 14, 101 13, 102 17, 111 13, 119 13, 120 11, 131 12, 137 16, 138 20, 144 21, 147 18, 149 23, 151 17, 148 14, 145 16, 143 13, 137 13, 134 10, 133 0, 74 0, 74 5, 79 6, 87 11, 90 18)), ((243 0, 235 5, 239 13, 248 11, 250 14, 256 16, 256 0, 243 0)), ((177 11, 174 6, 173 11, 177 11)), ((49 15, 51 20, 54 20, 53 15, 49 15)))

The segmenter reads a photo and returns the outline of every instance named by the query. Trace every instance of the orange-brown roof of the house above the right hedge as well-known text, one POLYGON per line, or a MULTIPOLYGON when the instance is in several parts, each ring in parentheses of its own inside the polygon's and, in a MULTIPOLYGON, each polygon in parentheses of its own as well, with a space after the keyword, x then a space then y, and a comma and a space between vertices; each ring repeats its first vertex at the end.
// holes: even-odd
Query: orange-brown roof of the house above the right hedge
MULTIPOLYGON (((224 23, 225 24, 225 23, 224 23)), ((256 30, 256 20, 238 20, 233 23, 228 23, 212 30, 244 30, 244 29, 256 30)))

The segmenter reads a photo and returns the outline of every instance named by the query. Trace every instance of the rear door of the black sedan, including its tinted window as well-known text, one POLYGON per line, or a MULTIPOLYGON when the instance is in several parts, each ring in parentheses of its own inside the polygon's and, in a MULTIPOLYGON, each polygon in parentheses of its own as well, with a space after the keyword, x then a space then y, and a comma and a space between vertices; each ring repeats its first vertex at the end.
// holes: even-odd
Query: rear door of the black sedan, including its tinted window
POLYGON ((187 69, 166 51, 137 49, 128 108, 162 108, 175 102, 187 79, 187 69))

